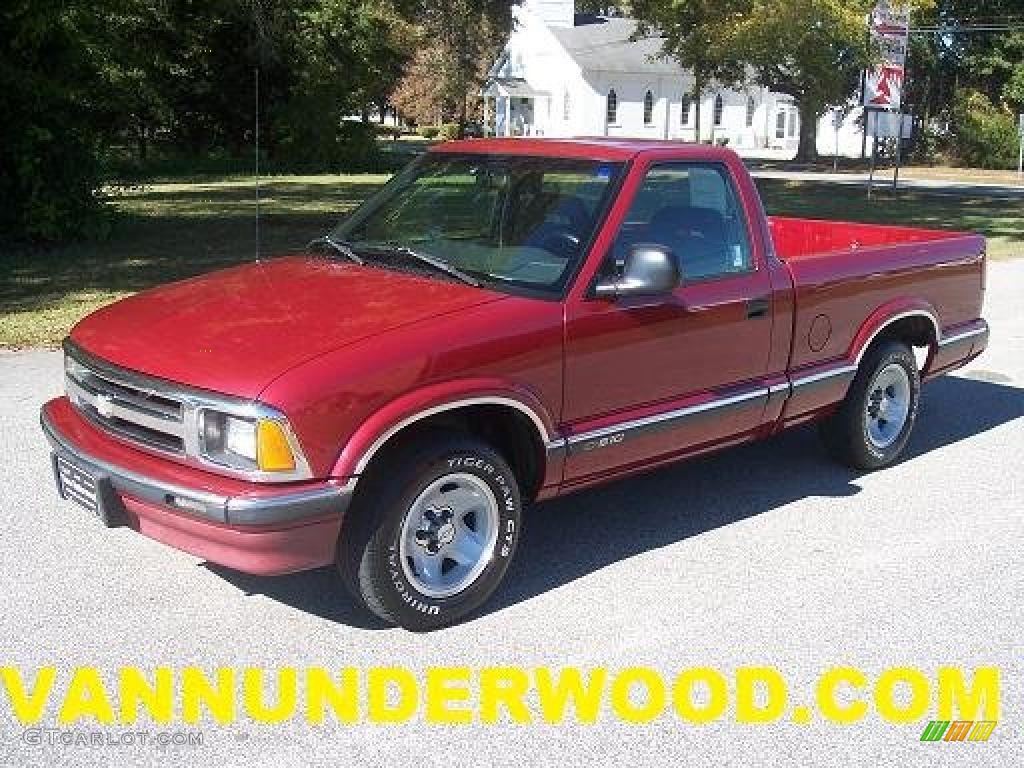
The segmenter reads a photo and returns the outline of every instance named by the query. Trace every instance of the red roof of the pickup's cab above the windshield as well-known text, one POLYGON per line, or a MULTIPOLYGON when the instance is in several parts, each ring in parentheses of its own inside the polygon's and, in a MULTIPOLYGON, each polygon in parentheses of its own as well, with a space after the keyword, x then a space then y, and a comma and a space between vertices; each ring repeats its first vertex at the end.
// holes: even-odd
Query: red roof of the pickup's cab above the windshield
POLYGON ((467 138, 434 144, 430 152, 473 155, 528 155, 545 158, 627 161, 640 155, 670 154, 680 160, 722 160, 731 150, 645 138, 467 138))

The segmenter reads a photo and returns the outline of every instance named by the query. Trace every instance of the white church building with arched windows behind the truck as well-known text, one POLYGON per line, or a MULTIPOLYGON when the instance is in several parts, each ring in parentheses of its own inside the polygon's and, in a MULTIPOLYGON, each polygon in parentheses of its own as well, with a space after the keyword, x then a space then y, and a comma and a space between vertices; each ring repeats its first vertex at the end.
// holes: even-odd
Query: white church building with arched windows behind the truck
MULTIPOLYGON (((575 13, 573 0, 524 0, 482 95, 498 136, 628 136, 696 140, 693 77, 662 55, 662 39, 633 41, 637 23, 575 13)), ((857 113, 841 127, 841 152, 859 156, 857 113)), ((752 85, 706 87, 700 137, 752 157, 792 158, 800 116, 791 96, 752 85)), ((831 116, 818 151, 835 152, 831 116)))

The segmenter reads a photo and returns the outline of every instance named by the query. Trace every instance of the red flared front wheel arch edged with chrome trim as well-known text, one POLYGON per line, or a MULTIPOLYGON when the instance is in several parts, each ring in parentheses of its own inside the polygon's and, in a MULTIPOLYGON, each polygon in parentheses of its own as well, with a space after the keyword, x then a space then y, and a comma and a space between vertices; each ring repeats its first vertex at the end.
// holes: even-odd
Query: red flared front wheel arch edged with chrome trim
MULTIPOLYGON (((333 477, 361 474, 374 455, 393 435, 434 414, 458 408, 494 404, 514 408, 528 417, 547 454, 558 454, 564 440, 557 434, 548 409, 528 390, 500 379, 464 379, 432 384, 391 400, 359 425, 348 438, 332 470, 333 477)), ((546 479, 556 469, 548 462, 546 479)), ((554 478, 558 481, 560 478, 554 478)))

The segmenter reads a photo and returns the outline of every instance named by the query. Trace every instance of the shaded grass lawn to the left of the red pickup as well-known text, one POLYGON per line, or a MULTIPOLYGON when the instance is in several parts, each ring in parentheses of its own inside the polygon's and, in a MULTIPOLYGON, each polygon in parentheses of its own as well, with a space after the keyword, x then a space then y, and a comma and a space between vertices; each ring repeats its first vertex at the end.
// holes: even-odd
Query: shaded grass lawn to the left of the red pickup
MULTIPOLYGON (((387 180, 386 175, 264 179, 264 256, 302 248, 387 180)), ((59 343, 96 307, 162 283, 256 258, 251 179, 153 184, 111 198, 112 237, 0 254, 0 347, 59 343)))

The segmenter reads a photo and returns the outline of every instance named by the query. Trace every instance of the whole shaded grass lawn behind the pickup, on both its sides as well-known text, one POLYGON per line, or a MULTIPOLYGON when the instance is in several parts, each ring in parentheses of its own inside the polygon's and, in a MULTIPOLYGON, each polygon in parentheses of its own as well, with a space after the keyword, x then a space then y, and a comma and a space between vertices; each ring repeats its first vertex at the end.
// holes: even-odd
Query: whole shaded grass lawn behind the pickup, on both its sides
MULTIPOLYGON (((386 180, 384 175, 280 176, 262 184, 264 256, 302 248, 386 180)), ((769 213, 975 229, 989 255, 1024 255, 1024 203, 880 193, 762 180, 769 213)), ((0 252, 0 347, 59 343, 96 307, 151 286, 255 259, 247 179, 162 183, 111 198, 110 240, 0 252)))

